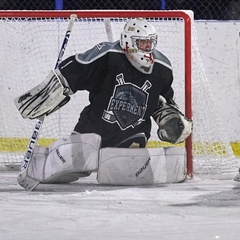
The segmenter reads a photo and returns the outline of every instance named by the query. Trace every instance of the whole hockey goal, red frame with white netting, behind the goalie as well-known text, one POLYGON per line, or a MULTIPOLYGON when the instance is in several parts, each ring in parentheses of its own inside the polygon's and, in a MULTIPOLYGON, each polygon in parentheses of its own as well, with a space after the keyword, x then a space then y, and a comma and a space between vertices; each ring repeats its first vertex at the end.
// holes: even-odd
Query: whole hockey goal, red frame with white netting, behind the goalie
MULTIPOLYGON (((118 40, 132 17, 145 17, 156 28, 157 49, 172 62, 175 100, 194 122, 188 139, 187 172, 224 174, 236 172, 226 129, 215 107, 204 73, 191 18, 181 11, 75 11, 78 18, 64 58, 83 52, 99 42, 118 40), (107 25, 106 25, 107 20, 107 25), (110 30, 109 30, 110 27, 110 30), (190 27, 190 28, 189 28, 190 27), (111 34, 111 35, 110 35, 111 34), (188 55, 190 51, 191 55, 188 55), (189 59, 191 57, 191 59, 189 59), (190 60, 190 61, 189 61, 190 60), (186 81, 188 77, 188 81, 186 81), (192 84, 191 84, 192 81, 192 84)), ((0 169, 18 168, 27 149, 35 120, 22 119, 14 98, 42 82, 54 68, 71 12, 0 12, 0 169)), ((45 118, 39 145, 48 146, 72 132, 79 114, 88 104, 87 92, 77 92, 71 101, 45 118)), ((153 123, 149 148, 169 144, 159 141, 153 123)), ((184 144, 180 146, 185 147, 184 144)))

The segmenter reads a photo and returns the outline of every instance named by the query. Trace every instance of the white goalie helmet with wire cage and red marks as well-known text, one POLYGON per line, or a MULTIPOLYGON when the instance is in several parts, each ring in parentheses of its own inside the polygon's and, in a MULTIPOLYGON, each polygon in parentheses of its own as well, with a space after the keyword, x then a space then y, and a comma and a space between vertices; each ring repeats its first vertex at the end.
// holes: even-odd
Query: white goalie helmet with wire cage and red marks
POLYGON ((143 18, 130 19, 121 33, 120 45, 136 69, 146 74, 152 72, 152 50, 157 45, 154 26, 143 18))

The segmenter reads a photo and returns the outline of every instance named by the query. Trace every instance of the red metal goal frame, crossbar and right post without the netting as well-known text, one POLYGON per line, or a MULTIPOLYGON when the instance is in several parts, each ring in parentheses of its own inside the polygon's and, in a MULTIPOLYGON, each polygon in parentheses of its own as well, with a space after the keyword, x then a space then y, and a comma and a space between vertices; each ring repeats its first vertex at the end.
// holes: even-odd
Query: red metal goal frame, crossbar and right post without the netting
MULTIPOLYGON (((0 11, 1 18, 69 18, 76 14, 78 18, 181 18, 184 22, 185 48, 185 115, 192 119, 192 60, 191 60, 191 22, 188 11, 144 11, 144 10, 82 10, 82 11, 0 11)), ((192 134, 186 139, 187 175, 193 176, 192 134)))

